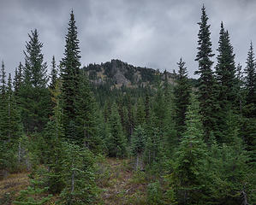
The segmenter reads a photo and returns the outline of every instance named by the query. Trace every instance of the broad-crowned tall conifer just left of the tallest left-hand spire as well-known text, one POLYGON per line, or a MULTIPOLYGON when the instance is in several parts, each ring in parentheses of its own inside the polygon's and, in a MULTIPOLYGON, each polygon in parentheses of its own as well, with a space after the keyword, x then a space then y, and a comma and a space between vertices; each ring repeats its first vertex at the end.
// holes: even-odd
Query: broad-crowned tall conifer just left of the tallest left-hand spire
POLYGON ((26 43, 25 66, 22 72, 23 82, 20 89, 21 120, 26 132, 41 131, 50 114, 51 98, 46 88, 46 62, 41 53, 43 44, 39 42, 39 33, 35 29, 28 34, 26 43))

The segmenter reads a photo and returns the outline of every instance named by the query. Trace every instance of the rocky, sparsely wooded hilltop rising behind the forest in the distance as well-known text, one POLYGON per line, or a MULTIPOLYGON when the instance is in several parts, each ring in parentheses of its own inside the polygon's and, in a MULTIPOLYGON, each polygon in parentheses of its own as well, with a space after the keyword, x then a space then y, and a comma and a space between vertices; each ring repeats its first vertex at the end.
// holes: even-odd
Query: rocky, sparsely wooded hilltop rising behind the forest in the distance
MULTIPOLYGON (((148 67, 135 67, 120 60, 111 60, 104 63, 89 64, 83 67, 88 78, 94 85, 109 84, 112 88, 126 86, 137 88, 139 86, 153 85, 158 78, 164 82, 164 73, 148 67)), ((168 82, 175 83, 176 73, 166 72, 168 82)))

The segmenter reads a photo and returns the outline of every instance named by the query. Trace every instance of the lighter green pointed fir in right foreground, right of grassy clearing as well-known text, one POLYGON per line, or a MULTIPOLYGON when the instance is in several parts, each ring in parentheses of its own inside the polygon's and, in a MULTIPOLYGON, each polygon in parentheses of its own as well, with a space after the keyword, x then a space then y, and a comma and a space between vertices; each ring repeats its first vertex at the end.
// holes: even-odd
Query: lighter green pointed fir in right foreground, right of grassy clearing
POLYGON ((176 150, 171 184, 181 204, 200 204, 205 179, 206 145, 203 141, 203 125, 199 116, 199 102, 191 97, 186 114, 186 131, 176 150))

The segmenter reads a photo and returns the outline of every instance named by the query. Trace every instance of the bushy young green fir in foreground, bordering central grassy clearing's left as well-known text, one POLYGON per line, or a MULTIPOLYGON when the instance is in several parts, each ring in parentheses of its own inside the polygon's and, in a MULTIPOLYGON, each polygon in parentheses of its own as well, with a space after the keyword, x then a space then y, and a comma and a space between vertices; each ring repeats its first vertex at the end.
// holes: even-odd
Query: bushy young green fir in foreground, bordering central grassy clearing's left
POLYGON ((63 143, 63 179, 65 188, 61 192, 63 204, 92 204, 97 187, 95 185, 93 155, 86 148, 63 143))

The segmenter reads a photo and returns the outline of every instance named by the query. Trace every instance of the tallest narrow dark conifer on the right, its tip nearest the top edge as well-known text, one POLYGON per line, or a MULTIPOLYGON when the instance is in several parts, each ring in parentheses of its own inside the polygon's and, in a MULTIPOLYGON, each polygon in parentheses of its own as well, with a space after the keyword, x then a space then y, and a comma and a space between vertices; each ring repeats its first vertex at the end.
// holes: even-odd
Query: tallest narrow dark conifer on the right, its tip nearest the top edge
POLYGON ((215 79, 211 70, 214 56, 211 50, 211 38, 209 31, 210 25, 207 24, 208 16, 203 6, 201 21, 199 22, 199 40, 198 54, 195 61, 199 62, 199 70, 195 74, 199 74, 199 113, 202 116, 202 123, 205 129, 205 141, 208 141, 212 129, 215 129, 215 104, 214 104, 214 84, 215 79))

